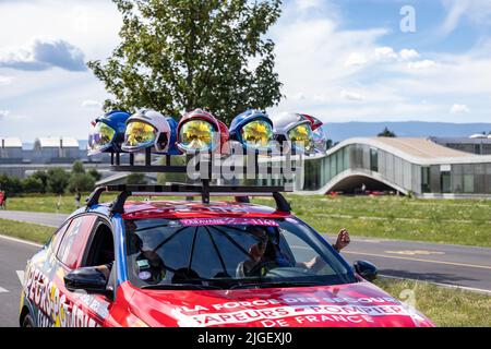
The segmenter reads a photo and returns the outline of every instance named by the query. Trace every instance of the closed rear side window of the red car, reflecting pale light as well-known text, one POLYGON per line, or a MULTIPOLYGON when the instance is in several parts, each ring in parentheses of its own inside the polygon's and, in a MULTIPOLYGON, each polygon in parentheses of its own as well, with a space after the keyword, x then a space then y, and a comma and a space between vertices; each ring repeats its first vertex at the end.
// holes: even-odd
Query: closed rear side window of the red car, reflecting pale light
POLYGON ((71 269, 79 267, 82 254, 96 217, 72 219, 57 251, 58 260, 71 269))

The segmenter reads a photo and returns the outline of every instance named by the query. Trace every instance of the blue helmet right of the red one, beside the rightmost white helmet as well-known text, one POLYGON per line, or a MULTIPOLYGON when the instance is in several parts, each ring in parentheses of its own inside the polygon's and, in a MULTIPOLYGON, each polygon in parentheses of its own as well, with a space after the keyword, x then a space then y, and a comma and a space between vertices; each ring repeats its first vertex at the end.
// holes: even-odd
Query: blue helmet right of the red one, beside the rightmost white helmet
POLYGON ((244 148, 270 148, 273 142, 273 122, 270 117, 255 109, 249 109, 237 116, 229 128, 230 140, 242 144, 244 148))

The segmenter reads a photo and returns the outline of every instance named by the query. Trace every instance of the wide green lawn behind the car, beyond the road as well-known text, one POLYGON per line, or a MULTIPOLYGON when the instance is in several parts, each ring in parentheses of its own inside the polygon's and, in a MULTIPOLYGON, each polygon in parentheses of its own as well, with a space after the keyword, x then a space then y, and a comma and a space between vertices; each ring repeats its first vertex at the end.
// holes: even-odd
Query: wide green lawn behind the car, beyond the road
MULTIPOLYGON (((85 197, 85 196, 83 196, 85 197)), ((115 195, 103 195, 110 201, 115 195)), ((170 200, 170 197, 168 197, 170 200)), ((321 232, 342 227, 354 236, 491 246, 491 201, 417 200, 398 196, 288 195, 294 213, 321 232)), ((71 213, 73 195, 11 197, 9 209, 71 213)), ((274 206, 273 200, 254 203, 274 206)))

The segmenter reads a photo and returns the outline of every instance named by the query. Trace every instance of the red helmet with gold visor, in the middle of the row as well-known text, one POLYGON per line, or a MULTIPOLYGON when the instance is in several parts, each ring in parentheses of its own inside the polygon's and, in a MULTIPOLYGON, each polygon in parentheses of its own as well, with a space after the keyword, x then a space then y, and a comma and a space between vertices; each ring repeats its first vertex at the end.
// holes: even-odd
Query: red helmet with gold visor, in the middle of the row
POLYGON ((178 125, 177 146, 183 153, 227 153, 228 128, 203 109, 185 113, 178 125))

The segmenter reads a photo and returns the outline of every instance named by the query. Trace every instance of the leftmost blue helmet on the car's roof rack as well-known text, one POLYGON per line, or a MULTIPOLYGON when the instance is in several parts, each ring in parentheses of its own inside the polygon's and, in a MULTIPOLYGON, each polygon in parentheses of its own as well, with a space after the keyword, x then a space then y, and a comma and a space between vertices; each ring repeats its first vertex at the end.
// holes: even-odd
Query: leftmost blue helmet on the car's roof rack
POLYGON ((124 130, 130 113, 115 110, 97 118, 88 135, 88 155, 106 152, 119 152, 124 141, 124 130))

